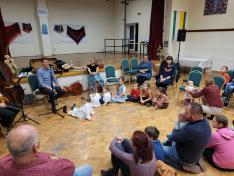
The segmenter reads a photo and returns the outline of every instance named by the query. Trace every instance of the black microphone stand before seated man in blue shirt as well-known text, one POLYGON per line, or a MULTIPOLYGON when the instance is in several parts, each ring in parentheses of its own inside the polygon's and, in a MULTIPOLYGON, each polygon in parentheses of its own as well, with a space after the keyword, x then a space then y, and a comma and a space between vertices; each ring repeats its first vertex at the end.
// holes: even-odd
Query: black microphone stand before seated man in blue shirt
POLYGON ((39 114, 39 116, 44 116, 44 115, 48 115, 48 114, 57 114, 59 115, 60 117, 64 118, 64 115, 60 114, 58 111, 63 109, 64 106, 56 109, 56 103, 55 103, 55 93, 54 93, 54 84, 53 84, 53 72, 52 72, 52 68, 51 68, 51 65, 50 65, 50 86, 51 86, 51 89, 52 89, 52 101, 51 101, 51 112, 47 112, 47 113, 43 113, 43 114, 39 114))

